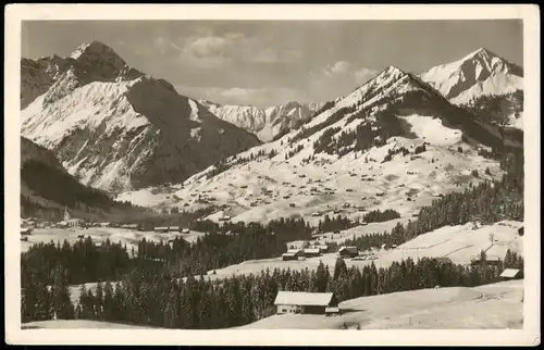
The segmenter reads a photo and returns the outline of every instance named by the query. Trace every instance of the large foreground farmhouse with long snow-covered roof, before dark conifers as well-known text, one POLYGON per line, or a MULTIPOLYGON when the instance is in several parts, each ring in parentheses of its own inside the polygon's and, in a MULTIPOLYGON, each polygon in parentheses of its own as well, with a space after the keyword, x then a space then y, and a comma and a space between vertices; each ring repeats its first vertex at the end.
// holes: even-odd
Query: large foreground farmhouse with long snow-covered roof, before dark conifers
POLYGON ((338 302, 333 292, 279 291, 274 301, 277 314, 338 313, 338 302))

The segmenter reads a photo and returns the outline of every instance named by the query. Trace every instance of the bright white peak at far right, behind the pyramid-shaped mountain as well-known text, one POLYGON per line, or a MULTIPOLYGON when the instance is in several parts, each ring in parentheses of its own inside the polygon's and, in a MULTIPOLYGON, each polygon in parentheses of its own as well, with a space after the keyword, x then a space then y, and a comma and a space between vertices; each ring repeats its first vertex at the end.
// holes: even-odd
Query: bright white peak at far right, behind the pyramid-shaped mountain
POLYGON ((523 68, 483 48, 455 62, 434 66, 420 77, 456 104, 482 95, 523 89, 523 68))

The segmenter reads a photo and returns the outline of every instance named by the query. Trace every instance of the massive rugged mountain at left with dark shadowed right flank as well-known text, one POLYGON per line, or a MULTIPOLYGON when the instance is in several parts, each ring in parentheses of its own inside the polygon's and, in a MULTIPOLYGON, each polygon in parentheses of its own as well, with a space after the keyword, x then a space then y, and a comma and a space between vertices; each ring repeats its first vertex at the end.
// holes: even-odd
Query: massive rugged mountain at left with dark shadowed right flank
POLYGON ((32 103, 22 110, 22 135, 85 185, 116 192, 178 183, 260 143, 101 42, 57 61, 49 71, 44 62, 52 60, 23 63, 32 76, 22 79, 22 101, 32 103))

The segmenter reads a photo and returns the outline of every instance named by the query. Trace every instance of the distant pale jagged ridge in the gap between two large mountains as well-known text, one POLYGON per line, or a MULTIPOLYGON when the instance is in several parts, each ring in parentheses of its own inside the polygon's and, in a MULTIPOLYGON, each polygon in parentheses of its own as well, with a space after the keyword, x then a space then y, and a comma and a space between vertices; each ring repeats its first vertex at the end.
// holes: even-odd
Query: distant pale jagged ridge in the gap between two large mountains
POLYGON ((323 103, 288 102, 260 109, 252 105, 218 104, 199 100, 213 114, 269 142, 293 129, 300 127, 323 105, 323 103))

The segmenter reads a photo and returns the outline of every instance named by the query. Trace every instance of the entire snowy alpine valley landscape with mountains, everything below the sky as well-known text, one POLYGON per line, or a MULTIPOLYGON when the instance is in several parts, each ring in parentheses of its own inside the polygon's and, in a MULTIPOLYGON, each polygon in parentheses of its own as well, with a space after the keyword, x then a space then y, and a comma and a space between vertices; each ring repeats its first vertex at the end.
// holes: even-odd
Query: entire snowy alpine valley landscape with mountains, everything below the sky
POLYGON ((23 218, 86 222, 22 239, 24 327, 523 327, 523 70, 497 54, 270 108, 98 41, 21 75, 23 218))

